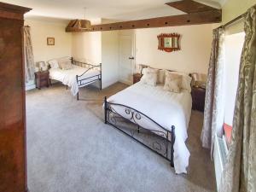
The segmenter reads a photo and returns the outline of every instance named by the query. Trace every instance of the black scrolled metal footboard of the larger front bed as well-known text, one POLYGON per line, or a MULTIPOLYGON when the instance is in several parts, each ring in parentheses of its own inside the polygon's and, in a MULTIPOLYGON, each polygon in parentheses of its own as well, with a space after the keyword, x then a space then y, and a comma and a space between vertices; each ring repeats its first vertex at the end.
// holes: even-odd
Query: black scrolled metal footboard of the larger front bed
POLYGON ((171 126, 171 131, 165 129, 146 114, 118 103, 108 102, 107 97, 104 100, 105 124, 112 125, 125 135, 133 138, 146 148, 154 151, 156 154, 164 157, 174 166, 173 154, 175 143, 175 126, 171 126), (123 108, 123 113, 118 111, 123 108), (149 122, 157 129, 148 129, 141 126, 140 121, 149 122))

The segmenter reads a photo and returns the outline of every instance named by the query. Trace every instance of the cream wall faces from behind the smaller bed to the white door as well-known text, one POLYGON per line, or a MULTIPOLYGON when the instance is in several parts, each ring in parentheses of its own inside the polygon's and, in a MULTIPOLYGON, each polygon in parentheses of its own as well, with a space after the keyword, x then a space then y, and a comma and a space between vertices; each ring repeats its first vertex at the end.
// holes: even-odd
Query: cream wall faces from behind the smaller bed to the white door
POLYGON ((118 31, 73 33, 72 55, 78 61, 102 63, 102 88, 118 81, 118 31))

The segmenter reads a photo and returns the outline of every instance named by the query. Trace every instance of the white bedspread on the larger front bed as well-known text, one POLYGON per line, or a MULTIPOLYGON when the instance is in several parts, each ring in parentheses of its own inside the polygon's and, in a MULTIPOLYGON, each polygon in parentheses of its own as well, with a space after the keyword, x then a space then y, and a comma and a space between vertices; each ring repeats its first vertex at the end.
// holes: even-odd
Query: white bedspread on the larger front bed
MULTIPOLYGON (((138 82, 125 90, 108 98, 108 102, 119 103, 135 108, 154 119, 159 125, 167 130, 175 126, 176 140, 174 143, 174 167, 175 172, 187 173, 189 166, 189 150, 185 141, 188 137, 187 128, 192 108, 192 98, 187 90, 181 93, 173 93, 163 89, 163 85, 150 86, 138 82)), ((113 106, 112 106, 113 107, 113 106)), ((124 117, 128 117, 124 108, 113 107, 113 109, 124 117)), ((159 127, 147 119, 137 120, 144 128, 159 130, 159 127)))

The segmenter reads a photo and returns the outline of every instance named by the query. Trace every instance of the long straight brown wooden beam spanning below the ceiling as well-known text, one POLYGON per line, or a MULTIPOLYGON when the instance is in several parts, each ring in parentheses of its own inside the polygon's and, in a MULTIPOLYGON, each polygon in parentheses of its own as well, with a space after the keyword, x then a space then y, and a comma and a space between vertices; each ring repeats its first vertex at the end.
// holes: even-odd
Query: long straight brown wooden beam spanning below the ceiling
MULTIPOLYGON (((91 26, 91 32, 113 31, 137 28, 152 28, 164 26, 189 26, 221 22, 221 10, 210 10, 186 15, 173 15, 147 20, 130 20, 110 24, 91 26)), ((88 31, 88 32, 90 32, 88 31)), ((67 31, 68 32, 68 31, 67 31)))

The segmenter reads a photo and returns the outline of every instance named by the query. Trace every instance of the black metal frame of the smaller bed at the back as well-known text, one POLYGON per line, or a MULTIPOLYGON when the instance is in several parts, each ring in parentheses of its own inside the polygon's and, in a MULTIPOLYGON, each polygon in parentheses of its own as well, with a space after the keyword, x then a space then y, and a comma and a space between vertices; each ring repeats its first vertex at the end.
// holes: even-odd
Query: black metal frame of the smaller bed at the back
MULTIPOLYGON (((86 85, 89 85, 96 81, 99 81, 99 87, 100 87, 100 90, 102 90, 102 63, 100 63, 99 65, 96 66, 93 64, 85 63, 85 62, 74 61, 73 57, 71 57, 70 60, 73 65, 86 68, 86 70, 83 74, 76 75, 76 79, 77 79, 77 83, 78 83, 79 87, 84 87, 86 85), (88 71, 90 71, 91 69, 94 69, 94 68, 98 69, 100 71, 100 74, 91 76, 89 78, 84 78, 84 79, 82 78, 85 73, 87 73, 88 71), (97 78, 97 79, 95 79, 95 78, 97 78), (90 80, 90 81, 84 83, 84 80, 90 80)), ((50 83, 50 80, 49 80, 49 83, 50 83)), ((66 85, 66 89, 67 88, 68 88, 68 86, 66 85)), ((77 100, 79 101, 79 92, 77 94, 77 100)))

